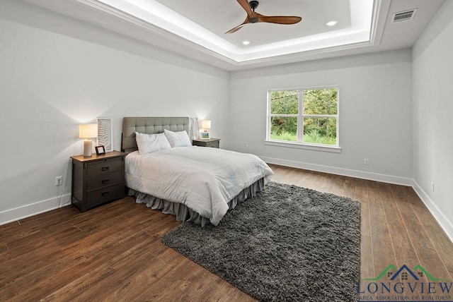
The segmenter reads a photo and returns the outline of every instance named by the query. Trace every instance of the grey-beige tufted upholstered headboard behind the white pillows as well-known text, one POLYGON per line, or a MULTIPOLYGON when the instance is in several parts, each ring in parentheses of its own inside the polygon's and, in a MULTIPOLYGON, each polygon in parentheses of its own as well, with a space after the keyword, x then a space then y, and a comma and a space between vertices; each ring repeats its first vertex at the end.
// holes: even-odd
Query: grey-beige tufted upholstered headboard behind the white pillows
POLYGON ((161 133, 164 129, 170 131, 187 131, 189 133, 188 117, 125 117, 122 119, 121 151, 130 153, 138 150, 135 132, 161 133))

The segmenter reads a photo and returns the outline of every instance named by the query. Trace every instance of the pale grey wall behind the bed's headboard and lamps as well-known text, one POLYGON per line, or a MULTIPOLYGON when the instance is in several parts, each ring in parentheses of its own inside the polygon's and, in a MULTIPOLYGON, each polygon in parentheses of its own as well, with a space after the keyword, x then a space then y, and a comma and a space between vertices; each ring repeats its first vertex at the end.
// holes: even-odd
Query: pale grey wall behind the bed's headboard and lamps
POLYGON ((0 2, 0 45, 0 224, 69 200, 79 123, 98 116, 115 150, 123 116, 212 119, 228 145, 226 71, 15 0, 0 2))

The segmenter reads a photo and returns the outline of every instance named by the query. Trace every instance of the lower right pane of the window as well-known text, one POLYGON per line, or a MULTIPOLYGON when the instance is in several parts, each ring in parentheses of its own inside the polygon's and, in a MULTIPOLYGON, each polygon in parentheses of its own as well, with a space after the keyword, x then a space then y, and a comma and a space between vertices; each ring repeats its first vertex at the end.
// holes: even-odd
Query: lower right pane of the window
POLYGON ((337 145, 337 119, 304 118, 304 143, 337 145))

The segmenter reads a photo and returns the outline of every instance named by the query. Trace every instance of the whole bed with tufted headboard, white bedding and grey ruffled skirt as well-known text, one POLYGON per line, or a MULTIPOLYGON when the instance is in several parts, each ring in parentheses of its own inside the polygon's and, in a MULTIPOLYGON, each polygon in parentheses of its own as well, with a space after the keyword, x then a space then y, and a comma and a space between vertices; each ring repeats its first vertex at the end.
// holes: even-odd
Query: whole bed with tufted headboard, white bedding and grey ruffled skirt
POLYGON ((217 225, 228 210, 261 191, 273 171, 255 155, 192 146, 185 138, 189 128, 188 117, 125 117, 125 184, 137 203, 183 222, 217 225), (171 147, 142 152, 143 138, 153 137, 155 147, 164 134, 171 147), (184 136, 183 146, 172 140, 175 135, 184 136))

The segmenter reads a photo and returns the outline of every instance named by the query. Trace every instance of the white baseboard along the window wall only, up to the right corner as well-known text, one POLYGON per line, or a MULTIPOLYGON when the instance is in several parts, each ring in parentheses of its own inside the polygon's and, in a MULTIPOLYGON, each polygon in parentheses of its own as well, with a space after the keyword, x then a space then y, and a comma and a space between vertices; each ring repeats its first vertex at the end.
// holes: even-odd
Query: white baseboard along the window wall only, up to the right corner
POLYGON ((306 162, 294 162, 291 160, 277 159, 277 158, 272 158, 272 157, 260 156, 260 159, 263 159, 263 161, 268 162, 269 164, 279 164, 280 166, 285 166, 285 167, 306 169, 306 170, 310 170, 310 171, 318 171, 318 172, 324 172, 324 173, 336 174, 336 175, 342 175, 342 176, 350 176, 350 177, 355 177, 356 179, 368 179, 370 181, 381 181, 383 183, 395 183, 395 184, 403 185, 403 186, 412 186, 413 185, 413 179, 408 179, 408 178, 404 178, 404 177, 390 176, 390 175, 370 173, 370 172, 364 172, 364 171, 356 171, 356 170, 336 168, 336 167, 328 167, 328 166, 323 166, 321 164, 308 164, 306 162))

